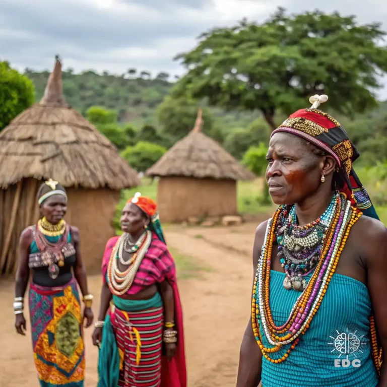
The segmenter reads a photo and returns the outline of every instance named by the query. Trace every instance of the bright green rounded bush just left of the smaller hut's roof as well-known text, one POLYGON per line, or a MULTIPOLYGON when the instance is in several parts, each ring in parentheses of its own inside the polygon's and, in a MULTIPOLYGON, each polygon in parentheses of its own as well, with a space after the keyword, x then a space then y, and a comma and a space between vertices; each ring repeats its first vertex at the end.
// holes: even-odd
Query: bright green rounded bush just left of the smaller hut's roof
POLYGON ((138 172, 145 172, 167 151, 158 144, 140 141, 133 147, 127 147, 121 156, 138 172))

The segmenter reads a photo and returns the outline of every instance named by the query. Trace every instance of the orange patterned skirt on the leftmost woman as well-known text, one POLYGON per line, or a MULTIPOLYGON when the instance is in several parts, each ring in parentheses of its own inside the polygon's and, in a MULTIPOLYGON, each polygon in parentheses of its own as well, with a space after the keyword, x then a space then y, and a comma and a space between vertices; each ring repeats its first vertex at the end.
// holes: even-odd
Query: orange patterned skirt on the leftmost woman
POLYGON ((41 387, 82 387, 85 357, 77 283, 46 288, 31 284, 32 346, 41 387))

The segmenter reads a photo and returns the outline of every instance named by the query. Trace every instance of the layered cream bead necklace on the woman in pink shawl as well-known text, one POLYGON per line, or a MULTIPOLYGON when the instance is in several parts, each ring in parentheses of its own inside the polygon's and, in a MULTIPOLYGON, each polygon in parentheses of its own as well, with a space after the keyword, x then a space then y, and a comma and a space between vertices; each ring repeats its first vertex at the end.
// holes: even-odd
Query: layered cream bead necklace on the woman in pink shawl
POLYGON ((143 261, 143 258, 147 253, 149 246, 151 245, 152 232, 149 230, 146 232, 146 237, 142 245, 139 247, 138 251, 135 252, 131 259, 131 265, 126 270, 121 272, 118 268, 117 252, 121 252, 122 254, 124 238, 124 235, 121 235, 118 238, 117 243, 111 252, 110 260, 107 265, 107 283, 111 293, 116 296, 122 296, 131 288, 141 262, 143 261))

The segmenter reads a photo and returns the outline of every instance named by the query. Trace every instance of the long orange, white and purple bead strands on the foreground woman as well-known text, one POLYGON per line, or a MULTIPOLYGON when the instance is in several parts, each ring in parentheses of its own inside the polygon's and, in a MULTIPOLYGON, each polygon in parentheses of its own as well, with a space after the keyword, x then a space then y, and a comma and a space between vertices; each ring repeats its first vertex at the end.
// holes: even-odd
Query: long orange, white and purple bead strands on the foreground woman
POLYGON ((251 321, 257 344, 264 357, 273 363, 285 361, 298 344, 299 336, 305 334, 309 328, 336 271, 350 229, 362 215, 340 195, 336 196, 336 201, 333 220, 327 230, 314 273, 295 302, 288 320, 282 326, 276 326, 270 309, 270 270, 275 232, 279 220, 284 218, 286 207, 280 206, 268 222, 253 285, 251 321), (261 329, 271 347, 263 345, 261 329), (289 348, 284 348, 289 344, 289 348), (278 355, 272 355, 278 352, 280 352, 278 355))

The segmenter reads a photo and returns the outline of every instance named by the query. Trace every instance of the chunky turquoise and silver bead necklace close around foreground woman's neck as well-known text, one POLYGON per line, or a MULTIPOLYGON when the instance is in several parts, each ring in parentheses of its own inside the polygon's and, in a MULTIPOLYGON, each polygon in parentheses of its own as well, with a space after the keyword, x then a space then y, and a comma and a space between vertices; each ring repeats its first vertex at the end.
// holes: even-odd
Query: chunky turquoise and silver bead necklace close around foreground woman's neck
POLYGON ((315 269, 338 202, 334 195, 327 210, 315 221, 299 226, 295 206, 285 210, 277 226, 278 256, 286 277, 284 288, 303 291, 304 276, 315 269))

